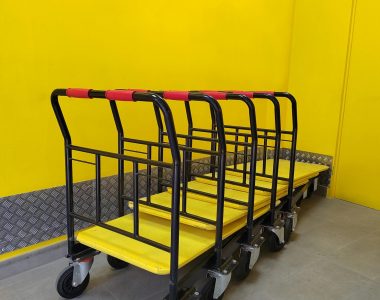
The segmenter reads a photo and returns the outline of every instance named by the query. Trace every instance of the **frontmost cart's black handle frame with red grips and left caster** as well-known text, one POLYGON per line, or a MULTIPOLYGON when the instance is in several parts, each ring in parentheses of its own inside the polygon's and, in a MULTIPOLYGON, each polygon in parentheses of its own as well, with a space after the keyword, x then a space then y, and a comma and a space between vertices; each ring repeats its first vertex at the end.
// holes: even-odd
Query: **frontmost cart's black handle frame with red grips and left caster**
MULTIPOLYGON (((150 93, 138 93, 125 91, 96 91, 87 89, 57 89, 54 90, 51 95, 51 103, 55 116, 57 118, 59 127, 64 137, 65 145, 65 164, 66 164, 66 206, 67 206, 67 237, 68 237, 68 258, 70 259, 70 265, 60 274, 57 281, 57 291, 65 298, 74 298, 80 295, 88 285, 89 282, 89 270, 93 263, 93 257, 99 253, 95 248, 86 246, 80 243, 74 236, 74 220, 81 220, 89 224, 96 225, 94 228, 103 229, 110 233, 124 236, 131 241, 138 242, 140 244, 148 245, 154 249, 159 249, 170 255, 170 299, 176 299, 177 295, 177 276, 178 276, 178 244, 179 244, 179 186, 180 186, 180 154, 178 150, 178 142, 176 138, 175 128, 173 125, 173 118, 171 111, 162 98, 150 93), (172 155, 172 163, 158 162, 151 159, 134 158, 118 153, 111 153, 101 151, 97 149, 80 147, 72 144, 70 132, 66 124, 63 112, 59 105, 59 97, 75 97, 75 98, 104 98, 111 100, 114 103, 116 100, 122 101, 144 101, 154 102, 155 105, 161 110, 166 128, 168 131, 168 137, 170 140, 169 147, 172 155), (82 152, 92 154, 95 158, 95 162, 86 162, 95 165, 96 168, 96 216, 95 218, 89 218, 83 215, 79 215, 74 211, 73 200, 73 152, 82 152), (135 209, 133 211, 132 221, 129 222, 129 227, 132 230, 123 230, 118 226, 110 223, 104 223, 101 221, 101 158, 113 158, 120 161, 129 161, 133 163, 134 167, 134 199, 135 209), (141 216, 138 211, 138 191, 137 191, 137 179, 138 179, 138 166, 139 164, 145 164, 149 166, 160 166, 169 168, 172 170, 172 210, 171 210, 171 222, 170 226, 170 246, 163 243, 154 241, 153 239, 146 238, 140 234, 140 221, 141 216)), ((111 104, 112 105, 112 104, 111 104)), ((119 164, 120 168, 121 164, 119 164)), ((119 187, 120 188, 120 187, 119 187)), ((119 198, 119 216, 124 215, 123 203, 119 198)), ((130 220, 129 220, 130 221, 130 220)), ((101 234, 100 232, 99 234, 101 234)), ((79 235, 78 235, 79 236, 79 235)), ((115 236, 114 236, 115 237, 115 236)), ((78 238, 78 237, 77 237, 78 238)), ((112 237, 108 237, 112 242, 112 237)), ((101 242, 100 240, 98 242, 101 242)), ((116 258, 110 261, 118 261, 116 258)))

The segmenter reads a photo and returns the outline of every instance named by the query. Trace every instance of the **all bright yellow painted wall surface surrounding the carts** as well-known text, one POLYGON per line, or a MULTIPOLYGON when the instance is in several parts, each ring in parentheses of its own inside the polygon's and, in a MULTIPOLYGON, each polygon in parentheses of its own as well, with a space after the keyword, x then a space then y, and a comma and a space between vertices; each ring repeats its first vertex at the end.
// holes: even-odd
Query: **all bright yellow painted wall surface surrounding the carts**
MULTIPOLYGON (((378 161, 372 156, 353 159, 363 149, 379 146, 378 10, 379 4, 368 0, 69 0, 64 5, 3 0, 0 196, 64 184, 63 142, 49 102, 54 88, 275 89, 288 90, 299 100, 298 149, 338 154, 332 195, 380 209, 378 161)), ((62 102, 74 143, 116 150, 106 101, 62 102)), ((256 104, 259 126, 273 123, 271 106, 256 104)), ((243 107, 222 106, 226 124, 246 124, 243 107)), ((183 105, 171 107, 178 131, 185 132, 183 105)), ((194 123, 207 126, 208 110, 200 104, 194 109, 194 123)), ((285 129, 290 127, 289 110, 285 105, 285 129)), ((156 138, 149 105, 124 103, 121 114, 128 136, 156 138)), ((115 174, 116 167, 104 160, 102 175, 115 174)), ((93 167, 74 168, 75 181, 94 176, 93 167)), ((164 272, 166 266, 152 268, 164 272)))

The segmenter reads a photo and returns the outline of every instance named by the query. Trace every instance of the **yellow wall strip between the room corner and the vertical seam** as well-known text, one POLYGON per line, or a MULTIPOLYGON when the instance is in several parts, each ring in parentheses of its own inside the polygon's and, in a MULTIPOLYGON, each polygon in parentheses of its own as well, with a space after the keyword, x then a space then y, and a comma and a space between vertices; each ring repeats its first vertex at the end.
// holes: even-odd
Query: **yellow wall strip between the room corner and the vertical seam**
POLYGON ((351 1, 296 1, 288 90, 299 150, 335 155, 350 13, 351 1))

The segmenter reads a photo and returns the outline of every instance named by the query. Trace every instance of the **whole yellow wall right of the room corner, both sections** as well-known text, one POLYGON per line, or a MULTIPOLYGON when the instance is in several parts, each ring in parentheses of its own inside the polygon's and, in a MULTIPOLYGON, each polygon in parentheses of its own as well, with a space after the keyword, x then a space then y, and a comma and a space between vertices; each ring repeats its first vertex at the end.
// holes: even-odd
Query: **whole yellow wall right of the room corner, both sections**
POLYGON ((331 197, 376 209, 379 9, 369 0, 296 1, 289 68, 298 149, 334 156, 331 197))

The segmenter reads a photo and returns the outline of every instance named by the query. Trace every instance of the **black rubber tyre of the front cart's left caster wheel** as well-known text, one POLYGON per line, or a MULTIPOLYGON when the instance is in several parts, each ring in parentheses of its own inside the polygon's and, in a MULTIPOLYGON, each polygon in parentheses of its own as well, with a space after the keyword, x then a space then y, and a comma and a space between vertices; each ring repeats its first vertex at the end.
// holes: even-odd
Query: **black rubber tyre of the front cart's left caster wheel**
POLYGON ((57 292, 63 298, 73 299, 75 297, 78 297, 84 292, 84 290, 88 286, 88 283, 90 281, 90 274, 87 274, 86 278, 83 280, 83 282, 80 285, 78 285, 77 287, 74 287, 72 285, 73 273, 74 273, 74 267, 70 266, 67 269, 65 269, 62 272, 62 274, 58 277, 57 292))

